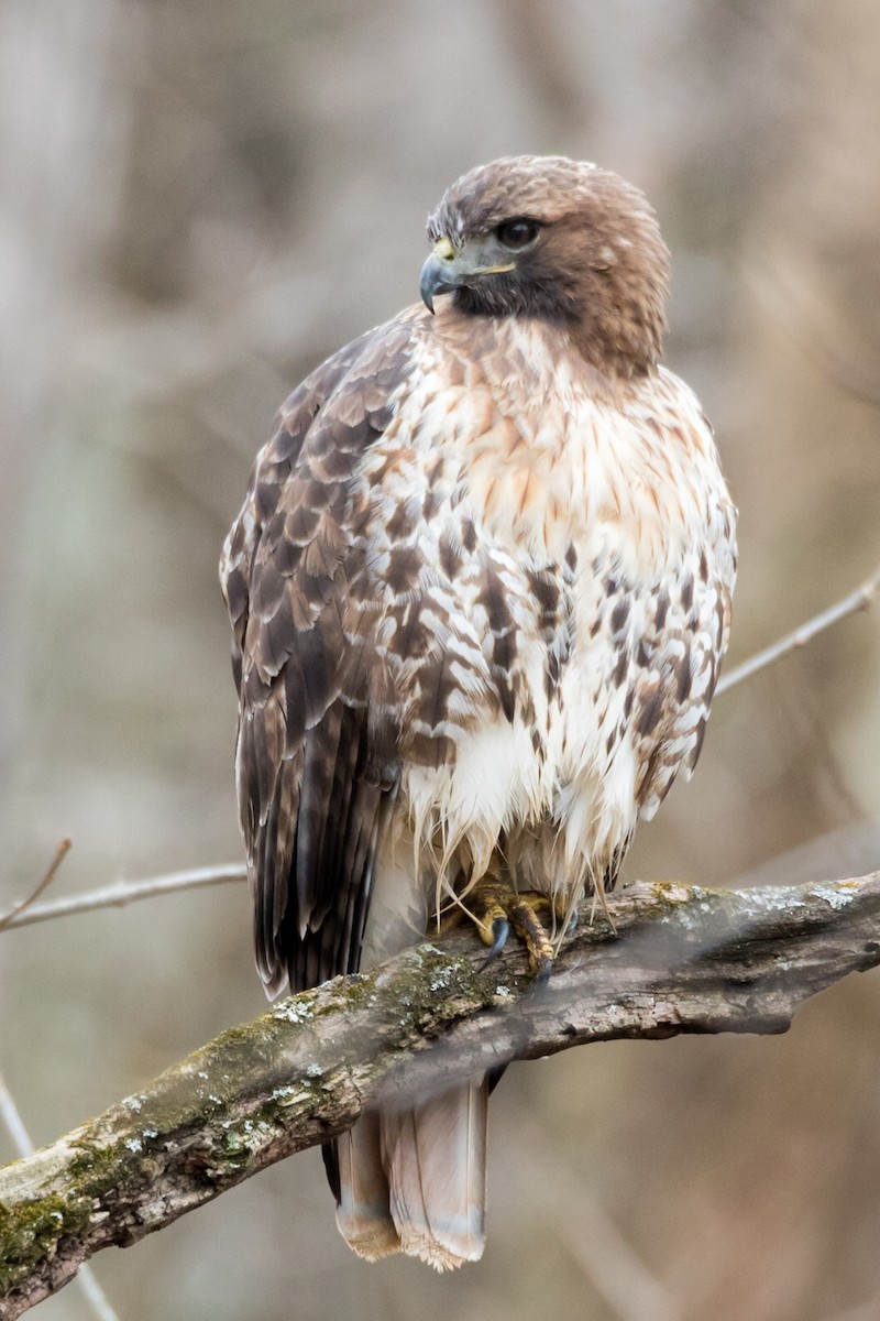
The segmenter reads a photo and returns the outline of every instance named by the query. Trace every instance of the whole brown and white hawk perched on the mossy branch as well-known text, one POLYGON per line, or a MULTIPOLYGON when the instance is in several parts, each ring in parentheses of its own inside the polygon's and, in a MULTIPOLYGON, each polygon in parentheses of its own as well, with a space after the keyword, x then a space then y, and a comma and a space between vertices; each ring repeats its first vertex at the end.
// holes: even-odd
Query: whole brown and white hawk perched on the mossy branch
MULTIPOLYGON (((668 252, 644 196, 524 156, 460 178, 427 231, 426 306, 290 395, 224 548, 272 995, 456 902, 487 943, 511 919, 546 972, 545 925, 615 884, 693 770, 727 643, 735 510, 657 362, 668 252)), ((487 1100, 475 1078, 330 1147, 356 1252, 480 1256, 487 1100)))

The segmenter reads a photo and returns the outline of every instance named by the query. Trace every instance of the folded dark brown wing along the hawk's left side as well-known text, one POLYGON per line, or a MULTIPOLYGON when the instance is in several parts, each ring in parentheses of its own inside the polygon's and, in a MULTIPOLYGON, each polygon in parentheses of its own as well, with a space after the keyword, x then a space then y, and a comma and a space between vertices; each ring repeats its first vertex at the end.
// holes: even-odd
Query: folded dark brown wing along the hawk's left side
POLYGON ((356 971, 394 794, 393 773, 376 773, 369 746, 368 666, 342 671, 351 650, 343 610, 352 478, 388 424, 408 341, 400 324, 380 328, 290 396, 224 551, 241 826, 270 993, 356 971))

